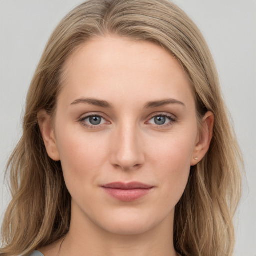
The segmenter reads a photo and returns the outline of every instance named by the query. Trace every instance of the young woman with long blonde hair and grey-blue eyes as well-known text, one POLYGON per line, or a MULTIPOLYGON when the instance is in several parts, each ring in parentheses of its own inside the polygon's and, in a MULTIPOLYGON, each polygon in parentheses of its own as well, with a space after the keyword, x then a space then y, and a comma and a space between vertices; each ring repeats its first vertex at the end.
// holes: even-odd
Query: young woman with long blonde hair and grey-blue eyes
POLYGON ((186 14, 166 0, 87 1, 32 79, 0 255, 231 255, 240 163, 186 14))

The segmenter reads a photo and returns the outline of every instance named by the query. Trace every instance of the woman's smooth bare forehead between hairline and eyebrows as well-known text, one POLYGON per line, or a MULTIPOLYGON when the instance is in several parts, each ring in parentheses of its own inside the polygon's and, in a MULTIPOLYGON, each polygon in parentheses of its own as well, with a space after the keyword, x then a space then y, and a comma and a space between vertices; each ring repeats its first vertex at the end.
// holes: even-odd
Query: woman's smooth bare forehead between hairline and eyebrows
POLYGON ((72 99, 96 96, 117 100, 118 95, 120 101, 187 100, 189 96, 193 101, 181 65, 163 47, 149 41, 93 38, 67 59, 64 74, 62 94, 72 99))

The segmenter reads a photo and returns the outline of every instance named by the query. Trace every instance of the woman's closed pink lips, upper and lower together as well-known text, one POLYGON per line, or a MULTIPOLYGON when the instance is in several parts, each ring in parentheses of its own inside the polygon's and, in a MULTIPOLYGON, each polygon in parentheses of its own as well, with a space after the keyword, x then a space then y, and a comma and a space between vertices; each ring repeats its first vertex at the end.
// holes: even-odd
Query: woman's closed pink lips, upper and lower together
POLYGON ((140 182, 112 182, 101 187, 110 196, 125 202, 137 200, 148 194, 153 188, 151 185, 140 182))

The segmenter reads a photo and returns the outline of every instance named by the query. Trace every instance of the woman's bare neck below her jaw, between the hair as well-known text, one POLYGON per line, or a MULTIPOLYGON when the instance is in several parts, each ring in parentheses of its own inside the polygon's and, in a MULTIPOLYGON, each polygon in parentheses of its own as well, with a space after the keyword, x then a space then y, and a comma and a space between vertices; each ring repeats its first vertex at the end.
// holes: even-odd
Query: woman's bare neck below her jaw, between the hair
POLYGON ((174 212, 149 230, 129 234, 109 232, 84 217, 84 214, 79 214, 79 211, 72 213, 70 229, 59 249, 59 256, 177 255, 173 246, 174 212))

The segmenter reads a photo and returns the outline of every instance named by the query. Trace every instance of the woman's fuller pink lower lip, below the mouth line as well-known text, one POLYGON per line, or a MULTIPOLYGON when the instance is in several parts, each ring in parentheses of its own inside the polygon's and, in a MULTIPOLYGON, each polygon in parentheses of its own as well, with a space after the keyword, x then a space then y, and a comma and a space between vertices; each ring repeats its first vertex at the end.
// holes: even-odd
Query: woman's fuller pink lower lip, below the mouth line
POLYGON ((150 192, 152 188, 135 188, 135 189, 116 189, 103 187, 104 190, 112 197, 125 201, 135 201, 150 192))

